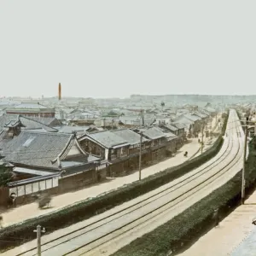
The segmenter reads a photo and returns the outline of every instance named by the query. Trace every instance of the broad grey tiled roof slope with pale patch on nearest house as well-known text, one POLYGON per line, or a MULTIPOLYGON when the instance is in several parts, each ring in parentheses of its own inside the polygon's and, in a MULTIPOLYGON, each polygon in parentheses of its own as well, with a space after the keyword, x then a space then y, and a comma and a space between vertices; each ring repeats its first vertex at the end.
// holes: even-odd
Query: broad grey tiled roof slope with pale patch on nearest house
POLYGON ((0 148, 5 160, 27 166, 57 167, 51 160, 55 160, 71 140, 70 135, 61 133, 21 131, 9 140, 3 139, 4 134, 3 131, 0 135, 0 148))

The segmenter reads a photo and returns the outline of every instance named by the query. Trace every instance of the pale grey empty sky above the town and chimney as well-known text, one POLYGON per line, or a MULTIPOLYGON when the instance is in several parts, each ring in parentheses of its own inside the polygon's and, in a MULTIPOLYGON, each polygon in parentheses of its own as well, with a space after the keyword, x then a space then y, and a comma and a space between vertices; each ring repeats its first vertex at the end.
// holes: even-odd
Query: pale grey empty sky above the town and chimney
POLYGON ((256 94, 256 1, 1 0, 0 96, 256 94))

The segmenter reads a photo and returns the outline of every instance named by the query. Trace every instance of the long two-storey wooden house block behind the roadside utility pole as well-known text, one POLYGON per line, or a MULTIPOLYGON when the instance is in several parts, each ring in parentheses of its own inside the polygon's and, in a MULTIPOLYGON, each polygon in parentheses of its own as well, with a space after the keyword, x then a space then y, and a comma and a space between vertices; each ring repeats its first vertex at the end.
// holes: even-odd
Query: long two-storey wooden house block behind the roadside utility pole
MULTIPOLYGON (((86 133, 79 137, 85 152, 108 162, 107 176, 116 177, 137 169, 142 140, 142 164, 166 156, 166 147, 174 145, 175 135, 156 127, 127 128, 112 131, 86 133)), ((175 147, 172 147, 174 151, 175 147)), ((170 151, 170 150, 169 150, 170 151)))

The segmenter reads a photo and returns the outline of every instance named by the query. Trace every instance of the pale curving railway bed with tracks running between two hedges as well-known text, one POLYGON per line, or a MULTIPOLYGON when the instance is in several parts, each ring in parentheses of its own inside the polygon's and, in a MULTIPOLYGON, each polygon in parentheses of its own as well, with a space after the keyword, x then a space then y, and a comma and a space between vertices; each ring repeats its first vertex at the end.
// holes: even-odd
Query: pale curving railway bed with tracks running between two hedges
MULTIPOLYGON (((204 191, 208 193, 213 184, 232 175, 230 170, 241 164, 243 138, 240 135, 243 131, 237 119, 236 112, 231 110, 227 125, 229 136, 212 160, 172 183, 84 221, 79 228, 67 231, 62 236, 55 239, 45 236, 42 255, 109 255, 114 252, 113 249, 109 250, 112 244, 114 249, 118 249, 125 242, 153 230, 156 224, 160 224, 161 218, 164 220, 170 215, 171 219, 191 203, 200 200, 200 196, 195 195, 204 191), (148 227, 152 222, 155 225, 148 227)), ((12 255, 37 255, 37 251, 36 247, 31 247, 12 255)))

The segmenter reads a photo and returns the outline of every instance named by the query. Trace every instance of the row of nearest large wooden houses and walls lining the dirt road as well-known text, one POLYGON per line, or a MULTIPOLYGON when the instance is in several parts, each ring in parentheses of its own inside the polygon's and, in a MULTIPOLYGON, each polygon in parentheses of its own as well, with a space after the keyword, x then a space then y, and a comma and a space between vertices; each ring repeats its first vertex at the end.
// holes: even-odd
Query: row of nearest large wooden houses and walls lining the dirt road
POLYGON ((2 189, 1 203, 15 193, 18 203, 38 191, 63 193, 105 177, 137 169, 140 145, 142 163, 149 164, 176 152, 185 140, 184 130, 158 125, 136 129, 77 133, 59 132, 28 117, 0 117, 0 155, 15 175, 2 189), (142 144, 141 144, 142 142, 142 144))

